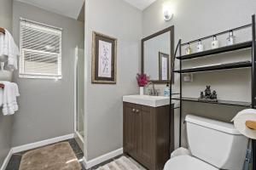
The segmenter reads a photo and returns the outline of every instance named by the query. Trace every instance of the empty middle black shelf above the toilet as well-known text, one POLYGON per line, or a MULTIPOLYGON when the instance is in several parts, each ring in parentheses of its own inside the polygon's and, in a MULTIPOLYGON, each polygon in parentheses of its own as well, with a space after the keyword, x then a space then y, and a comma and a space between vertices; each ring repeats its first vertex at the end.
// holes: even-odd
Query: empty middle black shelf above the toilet
POLYGON ((195 67, 191 69, 183 69, 181 71, 174 71, 177 73, 189 73, 189 72, 201 72, 201 71, 218 71, 218 70, 228 70, 228 69, 238 69, 251 67, 252 63, 250 61, 242 61, 236 63, 229 63, 223 65, 208 65, 202 67, 195 67))

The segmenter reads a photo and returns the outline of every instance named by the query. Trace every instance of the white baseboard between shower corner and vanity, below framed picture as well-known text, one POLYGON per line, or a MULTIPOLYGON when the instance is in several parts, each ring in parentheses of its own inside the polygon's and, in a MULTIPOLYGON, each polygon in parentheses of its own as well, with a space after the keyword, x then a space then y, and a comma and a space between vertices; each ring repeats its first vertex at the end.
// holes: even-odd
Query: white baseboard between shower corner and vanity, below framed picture
POLYGON ((118 150, 113 150, 112 152, 109 152, 108 154, 96 157, 90 161, 86 161, 86 159, 84 157, 83 160, 84 160, 85 168, 89 169, 90 167, 94 167, 94 166, 102 163, 103 161, 108 161, 109 159, 112 159, 115 156, 122 155, 123 153, 124 153, 123 148, 120 148, 118 150))

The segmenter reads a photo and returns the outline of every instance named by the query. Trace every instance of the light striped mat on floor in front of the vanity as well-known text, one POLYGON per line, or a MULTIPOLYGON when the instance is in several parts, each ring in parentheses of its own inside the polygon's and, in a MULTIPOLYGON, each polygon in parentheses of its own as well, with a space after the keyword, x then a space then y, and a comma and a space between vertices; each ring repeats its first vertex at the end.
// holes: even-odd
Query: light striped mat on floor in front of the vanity
POLYGON ((127 157, 122 156, 117 160, 111 161, 110 163, 98 167, 97 170, 141 170, 139 167, 137 167, 136 164, 134 164, 132 161, 130 161, 127 157))

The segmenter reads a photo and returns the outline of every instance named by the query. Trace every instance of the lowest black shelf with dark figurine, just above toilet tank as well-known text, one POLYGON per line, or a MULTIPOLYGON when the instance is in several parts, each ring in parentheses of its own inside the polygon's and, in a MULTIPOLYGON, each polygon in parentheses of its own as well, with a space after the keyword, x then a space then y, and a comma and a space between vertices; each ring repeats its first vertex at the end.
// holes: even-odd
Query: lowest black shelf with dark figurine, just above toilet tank
MULTIPOLYGON (((174 100, 180 100, 179 98, 172 98, 174 100)), ((207 101, 200 101, 197 98, 182 98, 183 101, 191 101, 191 102, 198 102, 198 103, 207 103, 207 104, 215 104, 215 105, 236 105, 236 106, 243 106, 243 107, 251 107, 251 103, 249 102, 241 102, 241 101, 229 101, 229 100, 218 100, 217 103, 207 102, 207 101)))

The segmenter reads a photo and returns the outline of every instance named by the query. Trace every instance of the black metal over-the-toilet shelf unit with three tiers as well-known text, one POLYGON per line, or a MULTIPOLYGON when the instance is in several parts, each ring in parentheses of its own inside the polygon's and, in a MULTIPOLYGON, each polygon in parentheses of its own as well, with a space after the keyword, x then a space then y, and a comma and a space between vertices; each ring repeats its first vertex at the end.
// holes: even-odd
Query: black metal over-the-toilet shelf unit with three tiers
MULTIPOLYGON (((170 91, 172 93, 172 82, 173 82, 173 74, 174 73, 179 73, 179 88, 180 88, 180 92, 179 92, 179 97, 178 98, 174 98, 172 97, 172 95, 170 95, 170 103, 172 104, 172 100, 178 100, 179 101, 179 106, 174 107, 175 109, 179 109, 179 145, 181 146, 181 125, 182 125, 182 112, 183 112, 183 101, 189 101, 189 102, 198 102, 198 103, 207 103, 207 104, 212 104, 212 105, 234 105, 234 106, 242 106, 242 107, 251 107, 253 109, 255 109, 256 105, 255 105, 255 100, 256 100, 256 94, 255 94, 255 88, 256 88, 256 79, 255 79, 255 71, 256 71, 256 51, 255 51, 255 47, 256 46, 256 42, 255 42, 255 14, 252 15, 252 24, 248 24, 246 26, 240 26, 234 29, 230 29, 228 31, 222 31, 222 32, 218 32, 215 35, 212 36, 208 36, 208 37, 202 37, 199 38, 197 40, 193 40, 190 42, 184 42, 182 43, 182 40, 180 39, 177 43, 177 48, 175 50, 175 54, 173 57, 173 62, 172 62, 172 77, 170 80, 170 91), (188 44, 188 43, 192 43, 192 42, 198 42, 198 40, 205 40, 208 38, 211 38, 213 36, 218 36, 218 35, 223 35, 225 33, 228 33, 230 31, 237 31, 237 30, 241 30, 244 28, 252 28, 252 41, 248 41, 248 42, 241 42, 241 43, 236 43, 234 45, 230 45, 230 46, 225 46, 222 48, 215 48, 215 49, 210 49, 207 51, 203 51, 203 52, 199 52, 199 53, 195 53, 195 54, 187 54, 187 55, 181 55, 182 54, 182 46, 188 44), (189 68, 189 69, 182 69, 183 68, 183 60, 186 59, 195 59, 195 58, 200 58, 200 57, 210 57, 211 55, 214 54, 223 54, 223 53, 227 53, 227 52, 233 52, 236 50, 240 50, 240 49, 245 49, 245 48, 252 48, 252 61, 243 61, 243 62, 235 62, 235 63, 229 63, 229 64, 222 64, 222 65, 207 65, 207 66, 203 66, 203 67, 194 67, 194 68, 189 68), (179 56, 177 56, 177 52, 179 52, 179 56), (175 59, 179 59, 179 70, 174 70, 174 65, 175 65, 175 59), (247 67, 251 67, 252 68, 252 103, 248 103, 248 102, 241 102, 241 101, 227 101, 227 100, 218 100, 217 103, 209 103, 209 102, 204 102, 204 101, 199 101, 198 99, 195 98, 185 98, 183 97, 183 84, 182 84, 182 74, 183 73, 189 73, 189 72, 202 72, 202 71, 219 71, 219 70, 227 70, 227 69, 237 69, 237 68, 247 68, 247 67)), ((170 114, 173 115, 172 110, 170 110, 170 114)), ((171 116, 170 116, 171 117, 171 116)), ((173 118, 173 116, 172 116, 173 118)), ((172 120, 171 120, 172 122, 172 120)), ((170 125, 171 128, 171 125, 170 125)), ((252 150, 253 150, 253 170, 256 170, 256 140, 253 140, 253 145, 252 145, 252 150)), ((172 151, 172 149, 170 148, 170 152, 172 151)))

